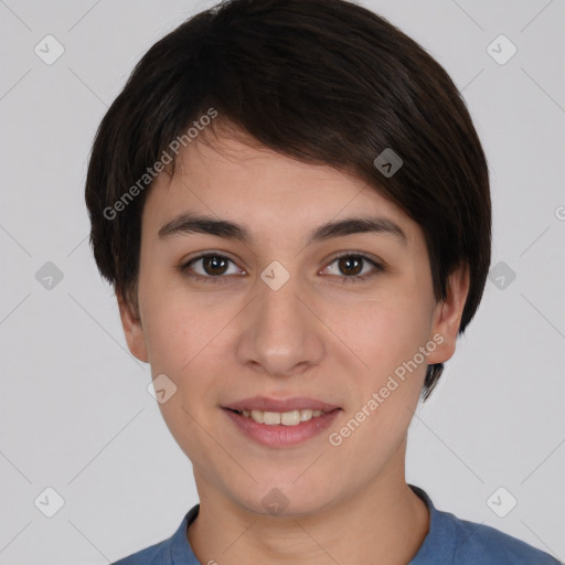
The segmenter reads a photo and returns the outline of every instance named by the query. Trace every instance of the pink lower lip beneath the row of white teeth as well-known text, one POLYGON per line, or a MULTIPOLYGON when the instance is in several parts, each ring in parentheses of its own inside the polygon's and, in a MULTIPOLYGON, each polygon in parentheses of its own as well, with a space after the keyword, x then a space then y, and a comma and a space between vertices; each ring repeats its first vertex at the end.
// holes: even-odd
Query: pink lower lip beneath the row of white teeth
POLYGON ((250 439, 269 447, 291 447, 310 439, 327 429, 341 412, 337 408, 321 416, 301 422, 296 426, 259 424, 253 418, 223 408, 237 428, 250 439))

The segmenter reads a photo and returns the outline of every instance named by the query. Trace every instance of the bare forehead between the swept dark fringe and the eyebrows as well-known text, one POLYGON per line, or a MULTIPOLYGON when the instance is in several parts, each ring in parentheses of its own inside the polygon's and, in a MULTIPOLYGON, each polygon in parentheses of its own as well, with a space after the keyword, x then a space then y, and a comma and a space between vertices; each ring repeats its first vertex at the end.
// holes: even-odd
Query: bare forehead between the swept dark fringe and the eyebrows
POLYGON ((157 233, 180 213, 232 218, 258 233, 307 230, 350 216, 386 217, 408 238, 416 224, 360 178, 328 164, 297 161, 249 139, 218 136, 179 153, 160 173, 143 207, 143 232, 157 233))

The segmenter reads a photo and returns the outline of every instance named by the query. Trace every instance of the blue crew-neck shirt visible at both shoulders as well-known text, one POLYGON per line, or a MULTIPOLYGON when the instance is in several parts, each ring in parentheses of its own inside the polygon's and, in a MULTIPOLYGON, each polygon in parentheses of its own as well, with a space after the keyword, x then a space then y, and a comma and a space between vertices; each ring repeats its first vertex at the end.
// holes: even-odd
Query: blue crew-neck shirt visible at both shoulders
MULTIPOLYGON (((559 565, 547 553, 494 527, 436 510, 424 490, 409 487, 428 507, 430 521, 424 543, 407 565, 559 565)), ((193 507, 168 540, 114 565, 201 565, 186 537, 186 529, 199 509, 199 504, 193 507)))

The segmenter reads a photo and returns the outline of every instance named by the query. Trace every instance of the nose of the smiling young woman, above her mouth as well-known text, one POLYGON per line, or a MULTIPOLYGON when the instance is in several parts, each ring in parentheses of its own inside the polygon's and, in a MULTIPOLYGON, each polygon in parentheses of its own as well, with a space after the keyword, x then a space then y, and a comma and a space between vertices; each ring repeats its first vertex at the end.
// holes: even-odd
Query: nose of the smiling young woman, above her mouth
POLYGON ((242 312, 237 355, 255 371, 292 376, 319 364, 324 354, 323 323, 297 279, 290 276, 276 290, 257 280, 256 295, 242 312))

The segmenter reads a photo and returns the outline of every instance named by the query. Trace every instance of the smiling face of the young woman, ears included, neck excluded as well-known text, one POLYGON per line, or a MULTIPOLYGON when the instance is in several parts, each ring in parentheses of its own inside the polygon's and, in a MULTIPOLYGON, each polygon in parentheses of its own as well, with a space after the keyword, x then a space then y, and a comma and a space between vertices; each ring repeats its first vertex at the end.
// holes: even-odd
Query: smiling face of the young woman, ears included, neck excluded
POLYGON ((467 284, 436 302, 419 226, 361 180, 221 137, 151 186, 120 313, 201 499, 306 515, 404 480, 467 284))

